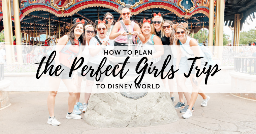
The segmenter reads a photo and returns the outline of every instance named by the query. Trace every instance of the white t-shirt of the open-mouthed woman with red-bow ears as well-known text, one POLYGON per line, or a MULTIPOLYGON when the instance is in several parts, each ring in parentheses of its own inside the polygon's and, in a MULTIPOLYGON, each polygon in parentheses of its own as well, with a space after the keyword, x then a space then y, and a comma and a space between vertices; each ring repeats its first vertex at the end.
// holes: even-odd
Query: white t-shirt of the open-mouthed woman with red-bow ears
MULTIPOLYGON (((109 37, 106 37, 104 39, 100 39, 99 36, 97 35, 98 39, 100 40, 101 43, 103 43, 103 41, 107 41, 109 40, 109 37)), ((91 38, 90 39, 90 43, 89 43, 89 49, 96 49, 100 47, 100 44, 98 43, 97 39, 95 37, 91 38)), ((102 49, 97 55, 95 56, 91 56, 89 58, 89 62, 91 63, 94 63, 94 64, 100 64, 100 62, 102 61, 102 59, 104 57, 107 57, 107 55, 104 54, 104 51, 107 51, 109 52, 109 50, 113 50, 114 49, 114 41, 113 40, 109 40, 107 42, 107 46, 102 49)), ((109 60, 107 59, 105 65, 109 64, 109 60)))

